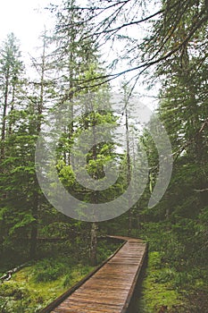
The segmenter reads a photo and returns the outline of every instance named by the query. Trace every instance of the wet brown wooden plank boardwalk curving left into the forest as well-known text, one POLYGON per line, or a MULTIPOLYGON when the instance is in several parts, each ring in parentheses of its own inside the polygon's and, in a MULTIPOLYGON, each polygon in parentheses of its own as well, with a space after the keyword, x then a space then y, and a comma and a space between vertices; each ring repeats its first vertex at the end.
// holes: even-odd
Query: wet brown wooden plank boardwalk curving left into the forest
MULTIPOLYGON (((109 236, 124 242, 121 249, 96 270, 68 298, 52 309, 53 313, 124 313, 134 292, 146 256, 146 243, 139 239, 109 236)), ((60 300, 59 300, 60 303, 60 300)), ((128 312, 129 313, 129 312, 128 312)))

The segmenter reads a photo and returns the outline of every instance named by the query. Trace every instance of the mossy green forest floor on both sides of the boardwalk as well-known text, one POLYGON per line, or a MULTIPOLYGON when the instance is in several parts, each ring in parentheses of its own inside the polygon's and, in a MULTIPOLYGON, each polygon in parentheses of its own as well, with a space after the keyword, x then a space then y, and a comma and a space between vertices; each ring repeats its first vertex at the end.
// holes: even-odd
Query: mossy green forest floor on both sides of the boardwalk
MULTIPOLYGON (((158 237, 162 238, 161 235, 158 237)), ((99 241, 97 263, 109 257, 120 245, 99 241)), ((207 266, 183 266, 179 270, 175 261, 166 258, 168 250, 154 250, 155 247, 159 247, 157 240, 150 241, 136 312, 208 312, 207 266)), ((41 250, 36 261, 29 262, 12 275, 10 281, 0 284, 0 313, 37 313, 94 268, 89 266, 88 250, 79 242, 77 245, 67 241, 48 243, 41 250)), ((2 264, 0 273, 7 269, 10 268, 6 268, 6 263, 2 264)))

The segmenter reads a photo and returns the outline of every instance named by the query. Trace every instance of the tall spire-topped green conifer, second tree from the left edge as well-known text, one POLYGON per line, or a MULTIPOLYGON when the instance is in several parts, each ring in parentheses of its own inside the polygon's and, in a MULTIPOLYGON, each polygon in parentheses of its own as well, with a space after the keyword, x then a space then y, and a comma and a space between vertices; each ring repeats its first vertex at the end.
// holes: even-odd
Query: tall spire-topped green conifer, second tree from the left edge
MULTIPOLYGON (((4 241, 10 242, 12 247, 17 244, 18 239, 28 240, 30 258, 36 256, 38 219, 41 218, 41 207, 45 205, 37 182, 35 149, 46 105, 51 96, 48 91, 51 84, 46 80, 46 33, 40 59, 40 63, 33 60, 37 72, 40 72, 37 81, 23 80, 21 93, 20 90, 14 93, 18 85, 17 76, 13 76, 12 87, 8 89, 12 93, 8 93, 7 97, 12 100, 12 114, 8 123, 8 135, 4 138, 0 181, 0 190, 6 190, 6 197, 1 204, 4 241), (16 106, 14 99, 18 104, 16 106)), ((17 71, 14 74, 17 75, 17 71)))

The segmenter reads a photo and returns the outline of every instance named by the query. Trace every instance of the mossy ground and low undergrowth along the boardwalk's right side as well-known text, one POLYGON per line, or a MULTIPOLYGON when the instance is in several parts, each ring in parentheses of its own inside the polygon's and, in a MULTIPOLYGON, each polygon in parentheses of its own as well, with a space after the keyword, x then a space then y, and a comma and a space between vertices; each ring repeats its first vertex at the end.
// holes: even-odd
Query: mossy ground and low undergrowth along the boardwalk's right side
POLYGON ((208 312, 208 266, 185 260, 179 242, 164 229, 151 234, 142 286, 137 296, 137 313, 208 312), (153 240, 154 238, 154 240, 153 240), (168 238, 168 240, 166 240, 168 238), (170 245, 171 242, 171 245, 170 245), (180 251, 181 250, 181 251, 180 251), (188 264, 189 262, 189 264, 188 264))

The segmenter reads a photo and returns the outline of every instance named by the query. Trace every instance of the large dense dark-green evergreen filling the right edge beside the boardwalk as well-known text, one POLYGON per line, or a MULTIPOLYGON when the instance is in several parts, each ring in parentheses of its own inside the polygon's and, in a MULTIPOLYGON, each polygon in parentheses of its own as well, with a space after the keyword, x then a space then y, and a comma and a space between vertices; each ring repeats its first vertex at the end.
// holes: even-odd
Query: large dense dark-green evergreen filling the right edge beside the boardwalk
MULTIPOLYGON (((173 33, 163 43, 167 52, 174 47, 178 49, 174 59, 172 55, 172 59, 158 63, 154 72, 154 77, 162 84, 157 112, 170 136, 175 158, 172 178, 162 201, 154 207, 154 210, 145 208, 143 214, 146 220, 154 222, 165 220, 183 247, 184 252, 181 252, 179 262, 182 264, 184 258, 187 265, 193 265, 199 264, 200 258, 207 255, 207 249, 202 249, 203 242, 207 242, 207 235, 201 219, 204 212, 207 212, 208 204, 208 133, 205 96, 208 81, 206 77, 207 51, 206 48, 204 49, 207 47, 205 35, 207 25, 201 24, 196 30, 200 19, 195 21, 198 14, 201 14, 201 17, 204 16, 205 19, 207 13, 205 13, 204 2, 195 4, 190 2, 190 8, 188 5, 181 8, 185 11, 181 15, 180 22, 175 22, 173 33), (193 30, 191 39, 186 39, 191 28, 193 30), (202 240, 201 243, 199 238, 202 240), (195 258, 192 257, 194 254, 197 255, 195 258)), ((170 27, 171 21, 170 15, 167 28, 170 27)), ((160 21, 158 21, 158 26, 162 26, 160 21)), ((167 28, 165 27, 164 30, 166 31, 167 28)), ((158 36, 162 38, 162 33, 158 32, 158 36)), ((150 148, 151 142, 148 144, 148 149, 150 148)), ((155 162, 155 160, 154 151, 152 161, 155 162)), ((156 171, 152 174, 154 182, 156 171)))

